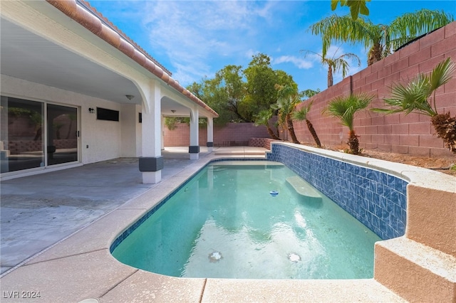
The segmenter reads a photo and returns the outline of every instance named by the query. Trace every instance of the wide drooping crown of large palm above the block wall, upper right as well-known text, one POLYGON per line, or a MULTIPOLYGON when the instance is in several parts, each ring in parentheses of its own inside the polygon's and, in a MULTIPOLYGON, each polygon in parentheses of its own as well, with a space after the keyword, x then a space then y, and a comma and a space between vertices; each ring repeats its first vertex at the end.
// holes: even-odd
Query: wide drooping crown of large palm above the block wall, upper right
POLYGON ((389 55, 393 49, 453 21, 444 11, 421 9, 395 18, 389 25, 374 24, 367 18, 353 20, 351 16, 329 16, 311 26, 321 35, 323 57, 332 41, 363 43, 368 51, 368 65, 389 55))

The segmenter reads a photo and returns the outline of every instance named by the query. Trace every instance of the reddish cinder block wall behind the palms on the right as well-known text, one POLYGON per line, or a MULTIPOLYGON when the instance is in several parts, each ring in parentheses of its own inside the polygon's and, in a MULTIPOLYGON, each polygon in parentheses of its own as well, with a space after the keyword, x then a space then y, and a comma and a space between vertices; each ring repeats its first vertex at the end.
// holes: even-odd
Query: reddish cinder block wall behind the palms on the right
MULTIPOLYGON (((333 97, 348 95, 351 91, 367 92, 375 96, 371 107, 383 107, 383 98, 390 96, 393 83, 408 83, 418 73, 430 72, 448 57, 456 63, 456 22, 318 93, 311 99, 314 104, 308 118, 322 144, 336 146, 345 144, 348 139, 347 127, 341 127, 338 119, 321 114, 333 97)), ((436 100, 439 112, 456 115, 456 75, 450 83, 437 90, 436 100)), ((299 141, 314 142, 304 122, 294 124, 299 141)), ((360 135, 362 148, 420 156, 452 155, 445 149, 442 139, 435 135, 430 117, 425 115, 383 115, 370 110, 361 111, 355 117, 355 130, 360 135)))

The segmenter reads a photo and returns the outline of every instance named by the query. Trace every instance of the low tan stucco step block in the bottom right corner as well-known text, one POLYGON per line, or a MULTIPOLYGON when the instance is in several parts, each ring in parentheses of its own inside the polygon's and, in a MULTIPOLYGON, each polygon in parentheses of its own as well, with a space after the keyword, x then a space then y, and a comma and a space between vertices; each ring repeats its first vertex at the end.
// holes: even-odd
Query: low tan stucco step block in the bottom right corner
POLYGON ((456 302, 456 257, 405 237, 375 243, 374 279, 413 302, 456 302))

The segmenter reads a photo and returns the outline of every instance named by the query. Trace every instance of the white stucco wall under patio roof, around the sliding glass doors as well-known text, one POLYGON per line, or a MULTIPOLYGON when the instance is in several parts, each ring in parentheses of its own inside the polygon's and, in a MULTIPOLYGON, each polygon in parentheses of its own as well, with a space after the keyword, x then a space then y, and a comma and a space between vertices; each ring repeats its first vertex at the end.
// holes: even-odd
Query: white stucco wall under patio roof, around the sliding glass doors
MULTIPOLYGON (((139 112, 137 105, 120 105, 88 95, 78 94, 27 80, 1 75, 2 95, 43 102, 57 102, 80 109, 78 124, 81 129, 81 163, 88 164, 120 156, 137 156, 138 121, 131 121, 131 112, 139 112), (120 111, 120 121, 103 121, 88 111, 89 107, 103 107, 120 111), (125 139, 126 142, 123 142, 125 139), (90 152, 88 152, 90 151, 90 152)), ((138 117, 136 113, 135 117, 138 117)), ((140 142, 138 142, 140 144, 140 142)))

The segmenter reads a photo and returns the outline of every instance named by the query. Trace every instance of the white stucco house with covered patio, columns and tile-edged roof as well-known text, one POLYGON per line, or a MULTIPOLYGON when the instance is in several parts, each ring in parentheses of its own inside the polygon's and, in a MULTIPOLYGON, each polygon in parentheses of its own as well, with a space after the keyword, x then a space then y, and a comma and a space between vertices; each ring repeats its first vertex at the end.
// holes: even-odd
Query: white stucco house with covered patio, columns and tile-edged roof
MULTIPOLYGON (((2 117, 18 124, 14 112, 24 115, 26 107, 33 105, 38 109, 33 112, 39 116, 33 119, 41 119, 37 124, 30 117, 36 127, 41 126, 34 138, 28 133, 15 135, 23 127, 2 123, 2 180, 63 166, 140 156, 142 181, 154 184, 161 179, 163 113, 196 117, 194 121, 202 117, 212 130, 217 112, 182 87, 86 1, 6 1, 1 25, 2 117), (10 103, 15 106, 11 115, 10 103), (68 125, 53 118, 59 106, 70 107, 66 111, 78 117, 78 128, 69 129, 70 125, 75 127, 74 118, 68 125), (115 111, 115 116, 118 112, 118 118, 98 117, 97 107, 115 111), (56 153, 58 144, 54 141, 61 139, 65 127, 66 134, 72 134, 73 145, 61 149, 71 151, 56 153), (27 144, 36 147, 29 150, 27 144), (24 150, 11 154, 10 146, 15 151, 24 150)), ((191 125, 189 145, 195 146, 197 125, 191 125)), ((204 144, 212 144, 211 134, 207 138, 210 142, 204 144)), ((190 159, 198 159, 198 153, 190 152, 190 159)))

